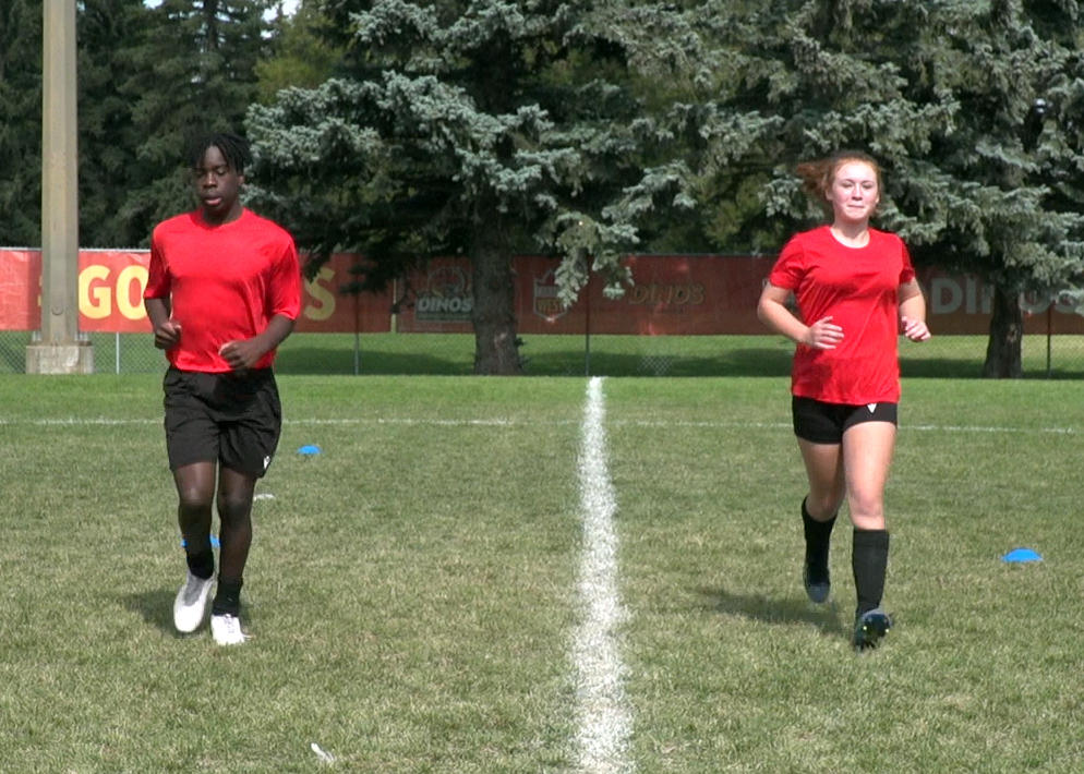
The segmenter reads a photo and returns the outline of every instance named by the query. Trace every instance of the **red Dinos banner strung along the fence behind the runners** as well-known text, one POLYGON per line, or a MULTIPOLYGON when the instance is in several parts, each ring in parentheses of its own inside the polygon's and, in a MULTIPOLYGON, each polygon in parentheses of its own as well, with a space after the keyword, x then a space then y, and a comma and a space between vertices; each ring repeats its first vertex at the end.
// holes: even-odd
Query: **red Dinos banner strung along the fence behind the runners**
MULTIPOLYGON (((521 334, 700 335, 764 334, 757 319, 760 289, 772 257, 634 255, 625 259, 634 285, 619 299, 603 293, 598 277, 570 307, 557 298, 556 258, 514 259, 515 312, 521 334)), ((147 332, 143 290, 145 250, 82 250, 79 255, 79 327, 86 331, 147 332)), ((393 302, 402 332, 471 332, 474 305, 467 258, 435 258, 383 293, 354 295, 362 262, 337 254, 304 283, 297 329, 305 332, 384 332, 393 302), (409 292, 404 292, 408 289, 409 292)), ((919 271, 935 336, 989 332, 992 293, 978 279, 919 271)), ((35 330, 41 319, 41 255, 0 250, 0 330, 35 330)), ((1084 307, 1065 298, 1024 295, 1027 334, 1084 334, 1084 307)))

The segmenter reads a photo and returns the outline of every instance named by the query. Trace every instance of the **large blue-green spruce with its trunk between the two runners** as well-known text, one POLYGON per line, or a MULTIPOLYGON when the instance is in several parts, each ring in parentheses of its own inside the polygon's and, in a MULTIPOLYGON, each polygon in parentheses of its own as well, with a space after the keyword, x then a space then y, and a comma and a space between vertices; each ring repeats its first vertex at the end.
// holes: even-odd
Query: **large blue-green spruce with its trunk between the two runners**
POLYGON ((625 50, 600 32, 607 10, 326 3, 330 28, 349 31, 349 77, 250 111, 264 206, 317 256, 364 254, 366 287, 420 258, 469 256, 475 371, 521 373, 513 253, 562 254, 566 300, 590 268, 621 292, 637 219, 679 197, 670 137, 631 92, 625 50))

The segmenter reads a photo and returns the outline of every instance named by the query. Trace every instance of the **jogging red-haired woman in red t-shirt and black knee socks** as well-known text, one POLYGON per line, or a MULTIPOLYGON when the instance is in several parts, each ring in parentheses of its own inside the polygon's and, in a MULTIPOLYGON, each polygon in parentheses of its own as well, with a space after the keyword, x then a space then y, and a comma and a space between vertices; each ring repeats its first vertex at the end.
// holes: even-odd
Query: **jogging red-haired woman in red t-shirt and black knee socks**
POLYGON ((846 497, 858 597, 853 643, 863 651, 876 648, 892 625, 880 605, 889 555, 884 484, 900 401, 898 338, 925 341, 930 331, 906 245, 869 226, 880 201, 877 162, 847 150, 797 171, 832 222, 786 243, 757 315, 797 344, 791 392, 809 480, 802 501, 806 593, 814 602, 828 598, 832 528, 846 497), (792 293, 797 314, 787 307, 792 293))

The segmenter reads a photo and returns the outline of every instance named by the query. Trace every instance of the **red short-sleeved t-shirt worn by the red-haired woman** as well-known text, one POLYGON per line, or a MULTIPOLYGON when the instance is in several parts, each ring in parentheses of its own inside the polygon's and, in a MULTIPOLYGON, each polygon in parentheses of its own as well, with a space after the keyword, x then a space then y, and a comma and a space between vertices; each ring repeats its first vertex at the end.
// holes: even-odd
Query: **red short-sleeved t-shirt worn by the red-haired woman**
POLYGON ((840 243, 828 226, 795 234, 768 281, 794 291, 806 325, 831 315, 843 340, 831 350, 799 344, 791 391, 828 403, 899 402, 899 290, 914 277, 895 234, 870 229, 865 247, 840 243))

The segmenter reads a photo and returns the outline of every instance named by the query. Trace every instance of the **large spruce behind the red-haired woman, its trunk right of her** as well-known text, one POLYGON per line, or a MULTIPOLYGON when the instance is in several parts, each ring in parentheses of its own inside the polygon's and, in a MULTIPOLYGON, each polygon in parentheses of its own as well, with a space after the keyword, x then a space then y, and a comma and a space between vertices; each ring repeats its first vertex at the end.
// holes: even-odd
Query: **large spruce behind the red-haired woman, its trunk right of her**
POLYGON ((820 217, 795 165, 869 150, 887 173, 878 223, 916 262, 993 285, 985 373, 1019 375, 1019 293, 1084 269, 1075 0, 719 2, 684 31, 672 61, 718 95, 688 108, 701 213, 721 214, 707 233, 774 252, 820 217), (698 64, 711 50, 723 81, 698 64))

